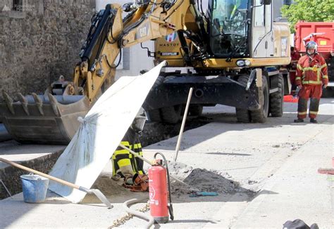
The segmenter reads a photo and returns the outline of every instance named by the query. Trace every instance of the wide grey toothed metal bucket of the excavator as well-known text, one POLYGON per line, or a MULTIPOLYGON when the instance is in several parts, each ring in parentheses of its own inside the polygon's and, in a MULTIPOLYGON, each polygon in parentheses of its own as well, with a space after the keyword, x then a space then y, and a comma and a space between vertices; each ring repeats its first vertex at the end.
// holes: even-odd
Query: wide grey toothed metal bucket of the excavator
POLYGON ((0 120, 20 143, 67 145, 80 125, 78 117, 85 117, 92 105, 86 96, 18 93, 18 101, 4 91, 3 96, 0 120))

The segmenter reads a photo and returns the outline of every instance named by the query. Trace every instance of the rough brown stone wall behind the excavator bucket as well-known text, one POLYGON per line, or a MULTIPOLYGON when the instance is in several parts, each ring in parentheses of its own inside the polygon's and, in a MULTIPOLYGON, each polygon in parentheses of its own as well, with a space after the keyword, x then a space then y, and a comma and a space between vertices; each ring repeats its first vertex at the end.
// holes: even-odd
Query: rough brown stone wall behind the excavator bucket
POLYGON ((1 1, 0 90, 43 93, 59 75, 71 79, 94 7, 95 0, 23 0, 14 11, 13 1, 1 1))

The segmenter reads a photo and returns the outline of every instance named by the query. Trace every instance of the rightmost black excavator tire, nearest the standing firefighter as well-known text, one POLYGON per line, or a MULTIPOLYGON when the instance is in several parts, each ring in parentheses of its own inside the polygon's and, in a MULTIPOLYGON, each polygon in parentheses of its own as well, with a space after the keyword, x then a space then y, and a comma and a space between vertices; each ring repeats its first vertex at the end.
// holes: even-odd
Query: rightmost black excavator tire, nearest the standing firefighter
POLYGON ((284 97, 284 79, 283 75, 278 74, 278 91, 270 94, 269 110, 271 117, 282 117, 283 115, 283 97, 284 97))

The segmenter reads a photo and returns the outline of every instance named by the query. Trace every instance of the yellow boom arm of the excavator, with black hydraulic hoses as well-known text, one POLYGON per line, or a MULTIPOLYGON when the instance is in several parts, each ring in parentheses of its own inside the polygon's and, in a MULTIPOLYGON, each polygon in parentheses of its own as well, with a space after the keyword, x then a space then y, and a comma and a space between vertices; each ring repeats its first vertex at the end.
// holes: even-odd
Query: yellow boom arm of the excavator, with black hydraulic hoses
POLYGON ((174 1, 166 8, 168 2, 142 4, 124 20, 121 18, 123 10, 118 4, 107 5, 100 13, 97 28, 89 34, 82 49, 82 62, 73 80, 75 86, 80 87, 79 79, 82 79, 89 101, 98 96, 104 81, 113 81, 116 69, 113 63, 121 48, 183 30, 186 24, 196 25, 193 14, 197 9, 190 0, 174 1))

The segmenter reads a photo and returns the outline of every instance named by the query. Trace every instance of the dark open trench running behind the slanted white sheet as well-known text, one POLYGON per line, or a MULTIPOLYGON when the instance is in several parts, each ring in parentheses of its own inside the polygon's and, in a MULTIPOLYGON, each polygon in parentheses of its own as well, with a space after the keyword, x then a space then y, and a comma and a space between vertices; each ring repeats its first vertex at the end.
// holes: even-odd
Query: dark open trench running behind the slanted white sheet
MULTIPOLYGON (((199 126, 203 126, 207 124, 208 120, 203 118, 191 119, 191 121, 187 121, 185 125, 185 131, 197 128, 199 126)), ((151 145, 153 143, 157 143, 161 140, 166 140, 168 138, 172 138, 177 136, 180 131, 180 123, 178 124, 159 124, 155 122, 147 123, 144 126, 144 131, 142 136, 140 136, 142 146, 151 145)), ((6 138, 8 140, 8 138, 6 138)), ((13 140, 11 140, 13 141, 13 140)), ((1 142, 1 145, 8 145, 8 141, 1 142)), ((18 145, 19 143, 16 143, 18 145)), ((32 159, 27 162, 23 162, 24 166, 35 169, 37 171, 42 171, 43 173, 49 173, 51 168, 56 163, 56 160, 61 155, 62 150, 58 152, 53 152, 49 155, 38 157, 37 159, 32 159)), ((20 181, 20 175, 27 174, 26 171, 21 169, 17 169, 13 166, 7 166, 4 169, 0 169, 0 179, 6 185, 11 195, 15 195, 19 192, 22 192, 22 186, 20 181)), ((8 193, 6 192, 4 186, 0 183, 0 199, 4 199, 8 197, 8 193)))

